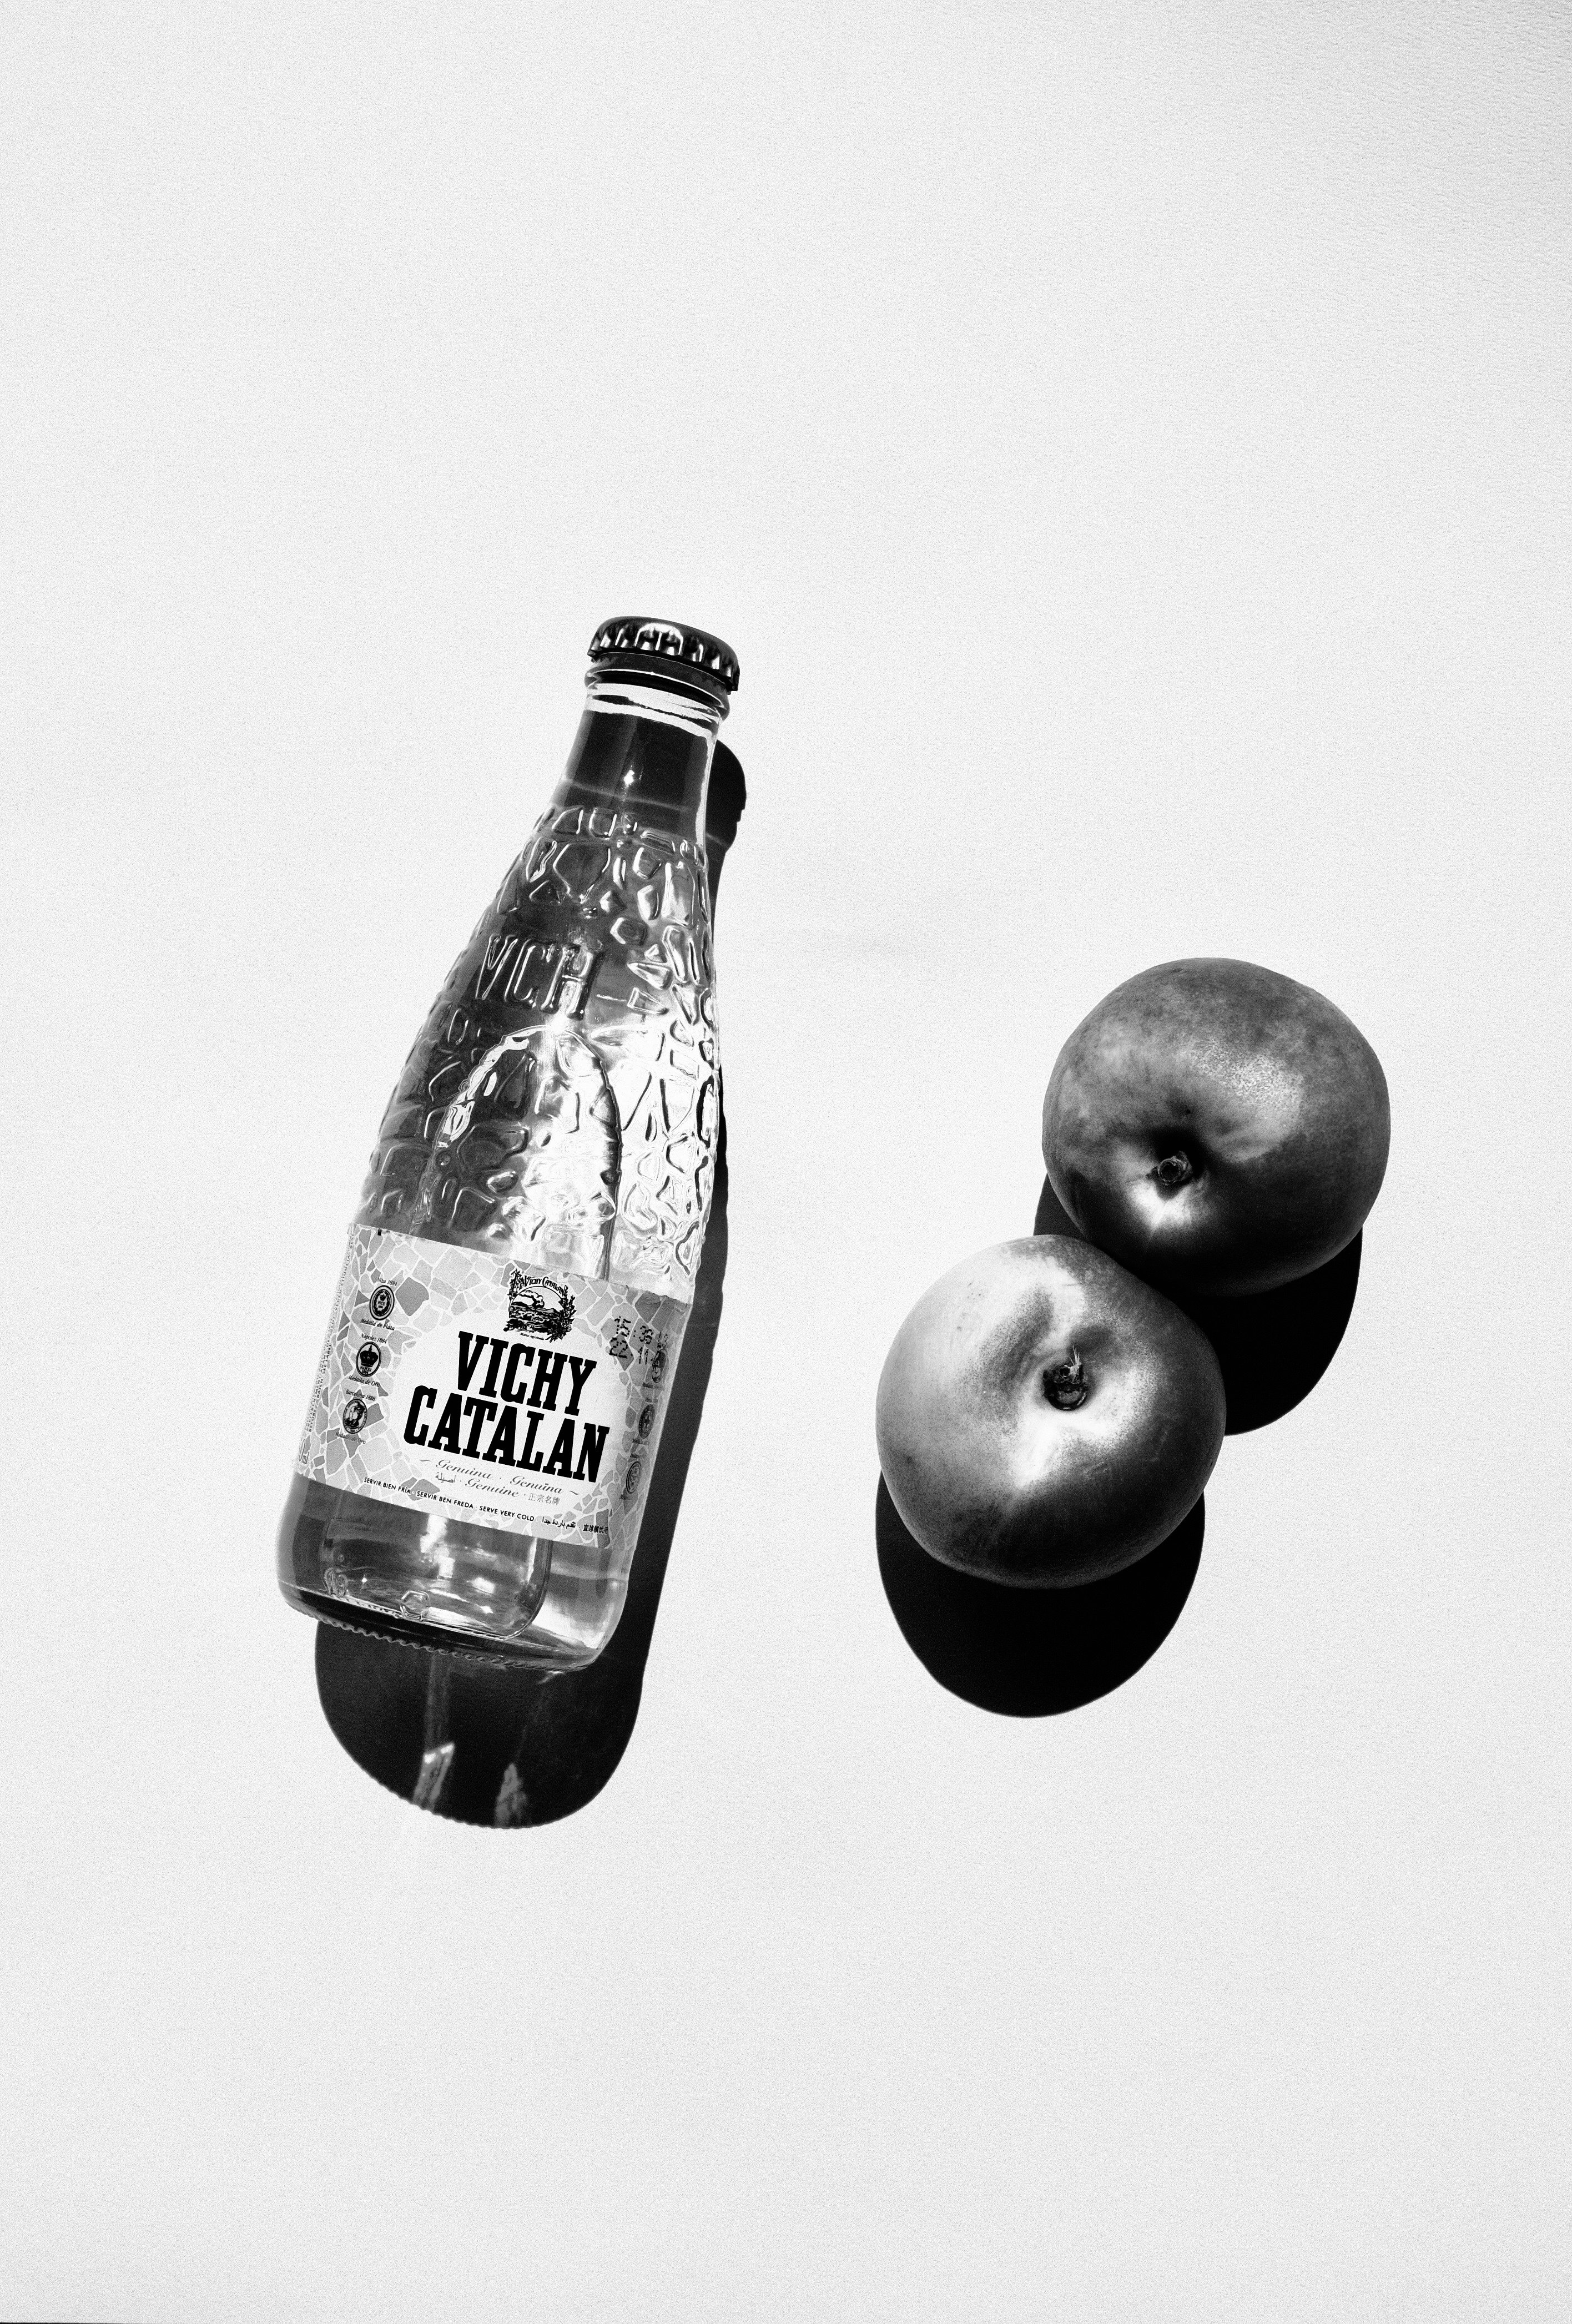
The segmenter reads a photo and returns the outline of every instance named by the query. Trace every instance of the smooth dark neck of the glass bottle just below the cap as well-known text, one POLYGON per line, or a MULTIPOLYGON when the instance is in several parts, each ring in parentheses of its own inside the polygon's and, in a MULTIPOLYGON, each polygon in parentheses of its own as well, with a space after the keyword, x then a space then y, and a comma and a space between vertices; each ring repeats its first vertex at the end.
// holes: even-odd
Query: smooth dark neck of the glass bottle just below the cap
POLYGON ((630 679, 588 676, 588 700, 556 806, 630 816, 642 830, 705 846, 705 795, 726 711, 705 695, 630 679))

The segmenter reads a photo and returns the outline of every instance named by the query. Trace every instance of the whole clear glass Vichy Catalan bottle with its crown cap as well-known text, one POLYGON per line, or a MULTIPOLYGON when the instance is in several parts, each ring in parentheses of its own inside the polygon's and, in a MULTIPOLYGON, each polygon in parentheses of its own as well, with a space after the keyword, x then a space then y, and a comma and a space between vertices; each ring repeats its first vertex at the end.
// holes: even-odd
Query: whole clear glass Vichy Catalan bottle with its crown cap
POLYGON ((623 1606, 709 1218, 737 660, 607 621, 586 686, 381 1122, 279 1529, 316 1620, 563 1669, 623 1606))

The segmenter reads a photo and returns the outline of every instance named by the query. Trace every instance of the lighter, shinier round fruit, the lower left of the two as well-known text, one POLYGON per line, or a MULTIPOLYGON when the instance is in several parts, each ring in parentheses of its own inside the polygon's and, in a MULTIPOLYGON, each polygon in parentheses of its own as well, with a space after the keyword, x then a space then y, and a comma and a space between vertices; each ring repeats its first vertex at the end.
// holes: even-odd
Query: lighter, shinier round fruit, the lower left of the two
POLYGON ((1223 1376, 1188 1315, 1105 1250, 1035 1234, 916 1301, 879 1378, 879 1464, 942 1564, 1056 1590, 1172 1534, 1223 1420, 1223 1376))

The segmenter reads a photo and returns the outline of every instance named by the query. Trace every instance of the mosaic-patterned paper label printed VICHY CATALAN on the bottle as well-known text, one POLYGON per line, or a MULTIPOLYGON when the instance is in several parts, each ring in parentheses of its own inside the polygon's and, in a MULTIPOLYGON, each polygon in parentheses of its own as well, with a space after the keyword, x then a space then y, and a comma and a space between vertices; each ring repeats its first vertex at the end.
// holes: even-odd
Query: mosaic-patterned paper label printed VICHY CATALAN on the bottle
POLYGON ((295 1466, 467 1525, 609 1545, 644 1499, 686 1313, 353 1227, 295 1466))

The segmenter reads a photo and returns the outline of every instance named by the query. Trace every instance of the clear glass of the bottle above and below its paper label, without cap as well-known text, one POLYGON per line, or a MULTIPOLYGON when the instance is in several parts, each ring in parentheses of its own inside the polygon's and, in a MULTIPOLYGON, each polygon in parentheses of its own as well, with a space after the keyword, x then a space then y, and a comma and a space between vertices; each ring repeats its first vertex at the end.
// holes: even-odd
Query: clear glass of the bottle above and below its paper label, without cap
MULTIPOLYGON (((721 716, 698 690, 591 672, 567 772, 393 1090, 356 1225, 656 1292, 681 1329, 719 1143, 721 716)), ((279 1580, 319 1620, 567 1666, 612 1636, 635 1538, 600 1571, 591 1548, 295 1476, 279 1580)))

